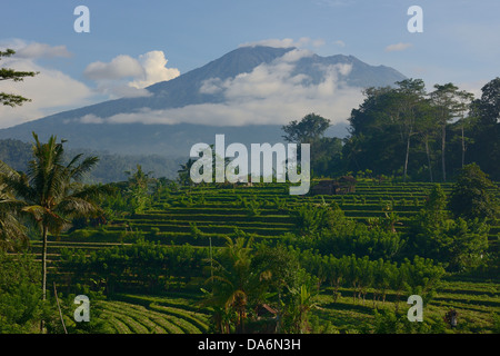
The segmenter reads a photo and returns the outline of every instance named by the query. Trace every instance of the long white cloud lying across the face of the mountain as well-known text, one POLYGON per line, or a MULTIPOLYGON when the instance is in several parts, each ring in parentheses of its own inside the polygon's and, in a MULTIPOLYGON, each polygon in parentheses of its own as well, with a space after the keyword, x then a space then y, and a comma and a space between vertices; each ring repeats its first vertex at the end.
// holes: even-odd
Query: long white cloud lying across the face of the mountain
POLYGON ((164 110, 144 108, 139 112, 114 115, 103 121, 212 126, 286 125, 309 112, 317 112, 332 123, 344 121, 350 110, 362 101, 360 88, 343 83, 351 66, 323 66, 320 68, 323 80, 313 83, 311 78, 293 72, 296 61, 304 56, 310 56, 310 52, 293 50, 270 63, 256 67, 249 73, 227 80, 206 80, 200 90, 223 96, 223 103, 191 105, 164 110))

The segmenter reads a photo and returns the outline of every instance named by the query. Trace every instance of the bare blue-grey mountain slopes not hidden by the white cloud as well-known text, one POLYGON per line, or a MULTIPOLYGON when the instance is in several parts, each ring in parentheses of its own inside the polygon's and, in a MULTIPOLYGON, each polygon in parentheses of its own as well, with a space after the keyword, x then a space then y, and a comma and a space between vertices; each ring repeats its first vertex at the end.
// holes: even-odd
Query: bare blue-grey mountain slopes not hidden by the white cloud
MULTIPOLYGON (((210 122, 207 125, 203 122, 201 125, 143 125, 137 121, 108 123, 103 122, 102 118, 123 113, 147 117, 149 111, 154 110, 182 109, 197 105, 229 105, 223 91, 203 91, 201 90, 203 83, 217 79, 223 86, 233 78, 244 78, 242 76, 252 72, 257 67, 271 66, 292 50, 294 48, 241 47, 176 79, 148 87, 147 89, 151 93, 148 97, 121 98, 59 112, 2 129, 0 139, 13 138, 31 141, 31 132, 36 131, 43 140, 50 135, 67 139, 68 146, 71 148, 176 157, 186 157, 190 147, 196 142, 212 144, 216 134, 226 134, 228 142, 238 141, 246 145, 281 141, 281 125, 214 127, 210 126, 210 122), (90 120, 83 121, 82 118, 90 120)), ((340 76, 339 81, 346 87, 390 86, 397 80, 404 79, 404 76, 392 68, 369 66, 356 57, 342 55, 303 56, 293 62, 292 76, 306 78, 304 85, 318 85, 324 80, 329 68, 341 65, 349 66, 349 71, 344 76, 340 76)), ((314 111, 313 107, 310 109, 310 112, 312 111, 314 111)), ((290 120, 300 119, 307 113, 309 112, 297 112, 297 117, 292 117, 290 120)), ((344 123, 338 127, 338 132, 344 132, 340 136, 347 134, 344 127, 344 123)))

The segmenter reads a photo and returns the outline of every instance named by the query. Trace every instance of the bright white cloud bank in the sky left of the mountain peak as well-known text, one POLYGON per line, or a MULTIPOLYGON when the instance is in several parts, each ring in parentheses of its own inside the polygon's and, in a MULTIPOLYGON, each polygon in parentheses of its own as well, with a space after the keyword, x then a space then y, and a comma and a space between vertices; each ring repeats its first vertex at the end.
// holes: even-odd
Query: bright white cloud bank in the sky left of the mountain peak
MULTIPOLYGON (((2 67, 39 72, 38 76, 26 78, 21 82, 0 81, 0 92, 21 95, 31 99, 21 107, 0 106, 0 128, 90 105, 98 97, 102 100, 102 96, 107 99, 150 96, 144 87, 180 75, 178 69, 166 67, 167 59, 162 51, 150 51, 138 59, 121 55, 110 62, 97 61, 87 66, 86 77, 96 82, 92 89, 59 70, 37 63, 37 59, 40 58, 70 57, 71 53, 64 46, 11 39, 1 41, 0 48, 16 50, 14 56, 2 58, 2 67)), ((83 121, 96 123, 99 122, 99 118, 86 118, 83 121)))

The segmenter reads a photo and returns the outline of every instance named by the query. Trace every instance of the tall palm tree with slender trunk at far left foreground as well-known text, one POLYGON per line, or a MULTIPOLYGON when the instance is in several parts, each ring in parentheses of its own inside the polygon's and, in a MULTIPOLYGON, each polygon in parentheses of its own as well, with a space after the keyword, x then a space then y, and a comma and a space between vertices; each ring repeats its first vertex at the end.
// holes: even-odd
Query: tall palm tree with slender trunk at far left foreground
MULTIPOLYGON (((2 175, 1 181, 13 191, 22 211, 40 229, 42 238, 42 299, 47 299, 47 238, 49 233, 58 235, 69 228, 76 217, 87 217, 100 209, 97 198, 109 192, 106 186, 83 186, 82 176, 98 162, 97 157, 80 161, 77 155, 68 165, 63 164, 64 150, 61 140, 51 136, 47 144, 40 144, 33 132, 33 159, 27 174, 2 175), (80 161, 80 162, 79 162, 80 161)), ((43 320, 41 322, 43 330, 43 320)))

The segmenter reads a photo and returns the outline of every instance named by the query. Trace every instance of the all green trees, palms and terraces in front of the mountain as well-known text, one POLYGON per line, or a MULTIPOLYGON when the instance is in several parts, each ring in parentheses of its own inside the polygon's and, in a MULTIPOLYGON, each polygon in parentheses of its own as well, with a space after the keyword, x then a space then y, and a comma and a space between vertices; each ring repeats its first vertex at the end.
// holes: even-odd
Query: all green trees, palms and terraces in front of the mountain
POLYGON ((499 333, 500 194, 464 155, 466 142, 470 157, 488 151, 498 177, 499 87, 472 102, 420 80, 368 89, 343 146, 316 115, 283 127, 312 145, 312 184, 340 169, 348 194, 193 185, 192 161, 178 180, 137 165, 86 185, 97 157, 33 134, 23 171, 0 162, 0 333, 499 333), (73 317, 77 295, 90 322, 73 317), (410 295, 421 323, 407 318, 410 295))

